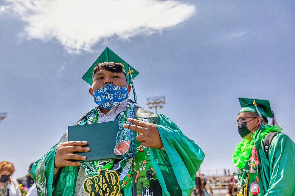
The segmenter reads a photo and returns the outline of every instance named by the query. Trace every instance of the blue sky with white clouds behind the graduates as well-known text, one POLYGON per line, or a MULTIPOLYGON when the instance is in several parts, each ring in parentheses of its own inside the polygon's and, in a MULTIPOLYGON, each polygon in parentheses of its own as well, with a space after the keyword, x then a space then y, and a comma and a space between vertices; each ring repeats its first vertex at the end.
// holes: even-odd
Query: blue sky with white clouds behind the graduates
POLYGON ((294 1, 0 2, 0 161, 25 175, 89 108, 81 79, 105 47, 139 71, 138 102, 205 152, 201 169, 234 168, 238 97, 270 100, 293 141, 294 1))

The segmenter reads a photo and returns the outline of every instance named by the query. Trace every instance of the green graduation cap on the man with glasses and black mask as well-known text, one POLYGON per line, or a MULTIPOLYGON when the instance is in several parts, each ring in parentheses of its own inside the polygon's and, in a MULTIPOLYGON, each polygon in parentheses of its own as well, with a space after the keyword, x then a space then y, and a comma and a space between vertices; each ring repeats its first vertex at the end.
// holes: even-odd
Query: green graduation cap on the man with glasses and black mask
POLYGON ((262 116, 266 118, 273 117, 272 116, 273 113, 271 111, 271 107, 268 100, 240 97, 239 101, 240 101, 242 109, 238 112, 238 114, 240 114, 241 112, 255 112, 259 115, 259 113, 257 112, 257 109, 258 109, 262 116))

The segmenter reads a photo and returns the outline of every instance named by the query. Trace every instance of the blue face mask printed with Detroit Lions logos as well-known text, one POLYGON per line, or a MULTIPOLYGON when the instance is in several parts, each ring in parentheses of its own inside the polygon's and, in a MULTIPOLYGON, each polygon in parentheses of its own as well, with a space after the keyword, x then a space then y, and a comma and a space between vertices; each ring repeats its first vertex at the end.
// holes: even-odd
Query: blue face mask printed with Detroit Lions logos
POLYGON ((128 99, 127 87, 119 87, 113 84, 105 84, 93 91, 94 102, 103 109, 111 109, 116 104, 128 99))

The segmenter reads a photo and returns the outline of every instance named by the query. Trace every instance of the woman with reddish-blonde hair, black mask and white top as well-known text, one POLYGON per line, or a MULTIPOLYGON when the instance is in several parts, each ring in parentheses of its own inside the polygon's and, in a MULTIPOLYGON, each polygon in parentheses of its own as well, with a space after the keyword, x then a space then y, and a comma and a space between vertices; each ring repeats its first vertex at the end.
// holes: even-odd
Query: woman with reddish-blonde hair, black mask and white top
POLYGON ((21 196, 18 182, 11 179, 14 172, 14 166, 11 162, 0 162, 0 196, 21 196))

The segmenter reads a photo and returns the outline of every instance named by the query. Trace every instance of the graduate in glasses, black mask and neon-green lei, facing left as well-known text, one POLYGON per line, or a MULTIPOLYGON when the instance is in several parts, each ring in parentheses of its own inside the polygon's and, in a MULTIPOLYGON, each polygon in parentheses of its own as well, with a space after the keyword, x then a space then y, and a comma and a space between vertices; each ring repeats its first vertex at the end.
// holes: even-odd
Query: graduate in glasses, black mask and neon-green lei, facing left
POLYGON ((268 100, 239 98, 235 125, 243 140, 233 152, 242 195, 295 195, 295 145, 275 125, 268 100), (273 119, 268 125, 267 117, 273 119))

